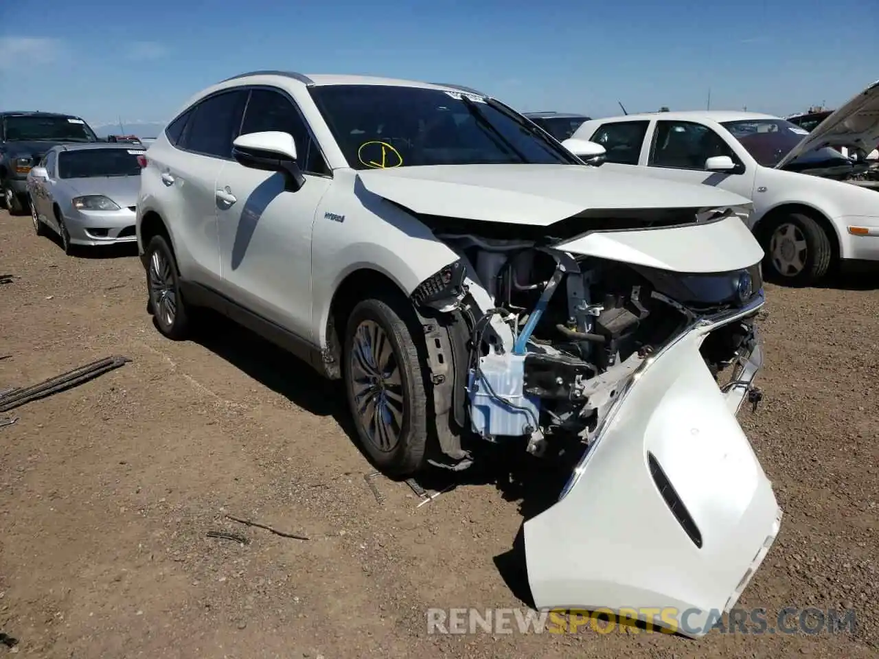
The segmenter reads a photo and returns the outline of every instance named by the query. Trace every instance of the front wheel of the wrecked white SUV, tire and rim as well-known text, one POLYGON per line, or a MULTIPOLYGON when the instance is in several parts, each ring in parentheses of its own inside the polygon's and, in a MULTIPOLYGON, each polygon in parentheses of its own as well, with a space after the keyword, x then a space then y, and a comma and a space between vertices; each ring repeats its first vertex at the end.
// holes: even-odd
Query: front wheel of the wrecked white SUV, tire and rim
POLYGON ((391 477, 424 465, 428 438, 425 375, 408 304, 391 296, 361 301, 345 330, 345 393, 360 445, 391 477))

